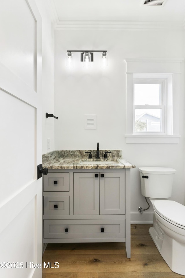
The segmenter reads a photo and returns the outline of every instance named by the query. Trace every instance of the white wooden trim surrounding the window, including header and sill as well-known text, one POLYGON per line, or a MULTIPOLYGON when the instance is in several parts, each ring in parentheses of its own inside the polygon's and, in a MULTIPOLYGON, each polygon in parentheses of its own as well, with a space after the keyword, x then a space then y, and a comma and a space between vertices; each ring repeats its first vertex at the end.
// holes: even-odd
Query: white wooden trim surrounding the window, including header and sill
MULTIPOLYGON (((180 96, 180 82, 181 73, 184 70, 183 58, 166 59, 166 58, 125 58, 126 63, 126 82, 127 82, 127 118, 126 118, 126 143, 164 143, 164 144, 177 144, 179 143, 180 130, 179 130, 179 96, 180 96), (168 103, 173 104, 171 109, 167 109, 166 115, 168 119, 171 119, 166 123, 166 134, 133 134, 133 77, 134 73, 142 74, 144 76, 148 74, 153 77, 153 73, 158 76, 163 75, 164 78, 168 78, 168 103), (165 74, 167 77, 165 77, 165 74), (173 91, 175 92, 175 99, 173 100, 173 91), (171 111, 170 111, 171 110, 171 111), (175 120, 173 113, 175 112, 175 120), (173 124, 175 122, 175 125, 173 124)), ((169 106, 170 107, 170 106, 169 106)))

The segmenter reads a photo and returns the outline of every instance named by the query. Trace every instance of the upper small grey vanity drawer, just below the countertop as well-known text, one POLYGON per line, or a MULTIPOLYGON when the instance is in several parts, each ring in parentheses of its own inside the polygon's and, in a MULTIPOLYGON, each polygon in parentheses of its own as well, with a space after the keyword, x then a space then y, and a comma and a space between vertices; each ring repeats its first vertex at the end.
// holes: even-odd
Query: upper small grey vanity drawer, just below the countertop
POLYGON ((69 191, 69 173, 48 173, 43 176, 44 191, 69 191))

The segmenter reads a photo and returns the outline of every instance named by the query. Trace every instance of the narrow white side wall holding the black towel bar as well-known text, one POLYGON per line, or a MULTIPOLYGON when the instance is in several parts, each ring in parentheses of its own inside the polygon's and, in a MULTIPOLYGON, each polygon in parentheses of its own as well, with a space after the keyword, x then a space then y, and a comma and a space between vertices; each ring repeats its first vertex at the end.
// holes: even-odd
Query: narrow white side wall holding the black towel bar
POLYGON ((35 0, 42 17, 42 153, 54 150, 54 20, 49 0, 35 0), (50 138, 50 149, 47 149, 50 138))

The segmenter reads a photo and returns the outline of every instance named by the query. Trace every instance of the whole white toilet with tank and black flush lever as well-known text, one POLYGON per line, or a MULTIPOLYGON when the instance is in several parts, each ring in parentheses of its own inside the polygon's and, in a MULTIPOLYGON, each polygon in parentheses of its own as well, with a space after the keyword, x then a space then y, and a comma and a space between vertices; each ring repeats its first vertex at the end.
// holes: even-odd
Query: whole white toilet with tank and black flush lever
POLYGON ((153 227, 149 234, 173 272, 185 275, 185 206, 171 197, 173 168, 140 167, 141 193, 153 206, 153 227))

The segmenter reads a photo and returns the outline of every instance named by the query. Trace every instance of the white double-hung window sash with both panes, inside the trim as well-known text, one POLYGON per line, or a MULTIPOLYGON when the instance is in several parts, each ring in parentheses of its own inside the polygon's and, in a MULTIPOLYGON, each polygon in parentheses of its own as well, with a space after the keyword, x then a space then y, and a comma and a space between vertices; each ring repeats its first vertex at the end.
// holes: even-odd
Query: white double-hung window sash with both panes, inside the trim
POLYGON ((133 134, 165 134, 165 80, 134 79, 133 134))

